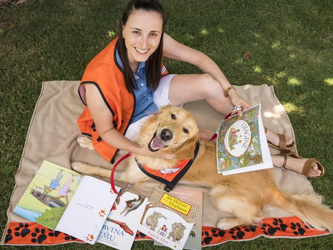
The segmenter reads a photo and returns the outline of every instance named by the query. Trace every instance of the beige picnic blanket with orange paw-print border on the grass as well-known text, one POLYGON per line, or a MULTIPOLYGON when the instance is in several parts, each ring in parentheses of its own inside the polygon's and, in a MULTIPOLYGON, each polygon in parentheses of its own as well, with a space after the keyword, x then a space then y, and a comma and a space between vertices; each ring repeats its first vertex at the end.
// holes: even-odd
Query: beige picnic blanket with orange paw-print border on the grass
MULTIPOLYGON (((43 160, 48 160, 71 168, 71 161, 83 161, 103 168, 111 169, 111 163, 104 160, 95 151, 80 148, 76 137, 80 135, 76 120, 84 109, 78 96, 79 81, 46 81, 43 82, 41 93, 33 112, 27 133, 23 155, 15 176, 15 187, 10 198, 8 208, 8 222, 1 240, 1 244, 59 244, 63 242, 78 241, 74 237, 60 232, 53 232, 47 228, 33 223, 13 213, 13 209, 22 197, 28 184, 36 174, 43 160)), ((235 86, 237 92, 252 105, 261 103, 264 125, 277 133, 294 136, 292 124, 288 119, 283 106, 274 94, 272 86, 245 85, 235 86)), ((216 113, 204 101, 186 103, 185 109, 193 113, 198 127, 215 131, 223 116, 216 113)), ((272 149, 272 154, 278 151, 272 149)), ((116 161, 121 157, 118 155, 116 161)), ((119 171, 126 168, 127 162, 119 164, 119 171)), ((282 191, 301 194, 313 192, 311 183, 302 174, 274 168, 274 178, 282 191)), ((109 179, 105 179, 109 181, 109 179)), ((124 186, 127 183, 115 182, 124 186)), ((130 192, 150 197, 155 186, 155 180, 134 185, 130 192)), ((264 211, 267 217, 261 227, 236 227, 226 233, 215 227, 216 221, 222 217, 232 217, 232 214, 218 211, 209 197, 209 190, 199 185, 180 181, 177 188, 202 190, 203 195, 203 221, 202 245, 220 244, 228 240, 250 240, 260 235, 268 237, 309 237, 325 235, 327 232, 310 230, 300 219, 276 207, 267 206, 264 211)), ((140 232, 136 239, 149 239, 140 232)))

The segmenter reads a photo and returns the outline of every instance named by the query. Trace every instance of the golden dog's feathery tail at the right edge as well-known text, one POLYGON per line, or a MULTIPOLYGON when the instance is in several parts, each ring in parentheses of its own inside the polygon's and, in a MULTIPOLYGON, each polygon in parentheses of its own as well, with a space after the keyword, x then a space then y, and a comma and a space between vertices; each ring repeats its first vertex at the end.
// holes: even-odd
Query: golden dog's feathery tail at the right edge
POLYGON ((295 214, 305 223, 320 231, 333 231, 333 210, 322 204, 323 197, 316 193, 290 195, 279 190, 272 195, 271 204, 295 214))

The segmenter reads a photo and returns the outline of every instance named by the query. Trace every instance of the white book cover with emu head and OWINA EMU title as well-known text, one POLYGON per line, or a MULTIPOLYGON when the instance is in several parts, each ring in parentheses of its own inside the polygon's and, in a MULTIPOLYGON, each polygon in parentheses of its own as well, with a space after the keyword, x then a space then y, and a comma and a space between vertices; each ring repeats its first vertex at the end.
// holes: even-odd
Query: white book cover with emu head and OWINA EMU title
POLYGON ((120 250, 132 247, 148 198, 125 192, 118 196, 97 242, 120 250))

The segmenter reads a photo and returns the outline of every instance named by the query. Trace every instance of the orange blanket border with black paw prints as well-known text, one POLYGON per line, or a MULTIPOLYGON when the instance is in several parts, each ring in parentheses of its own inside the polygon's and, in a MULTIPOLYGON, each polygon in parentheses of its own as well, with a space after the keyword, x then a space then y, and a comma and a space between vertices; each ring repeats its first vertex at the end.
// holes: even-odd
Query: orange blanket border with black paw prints
MULTIPOLYGON (((284 218, 267 218, 258 226, 237 226, 231 230, 220 231, 214 227, 203 226, 201 232, 202 246, 218 245, 226 241, 252 240, 260 236, 269 238, 305 238, 329 235, 328 231, 318 231, 307 226, 296 216, 284 218)), ((150 237, 136 233, 135 240, 152 240, 150 237)), ((5 244, 8 245, 53 245, 68 242, 81 242, 70 235, 49 230, 35 222, 10 222, 7 227, 5 244)))

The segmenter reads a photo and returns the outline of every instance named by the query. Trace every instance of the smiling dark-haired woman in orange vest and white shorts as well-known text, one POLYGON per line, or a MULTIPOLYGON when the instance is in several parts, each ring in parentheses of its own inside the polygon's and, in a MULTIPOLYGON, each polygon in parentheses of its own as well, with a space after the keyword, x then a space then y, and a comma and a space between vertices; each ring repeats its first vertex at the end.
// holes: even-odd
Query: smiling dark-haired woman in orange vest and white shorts
MULTIPOLYGON (((93 58, 82 77, 79 94, 88 108, 78 119, 78 125, 83 134, 92 137, 99 154, 111 163, 119 149, 173 158, 173 155, 151 152, 132 141, 147 116, 161 106, 182 106, 204 99, 223 115, 235 106, 250 107, 211 58, 165 34, 164 25, 165 14, 157 0, 132 0, 119 22, 119 37, 93 58), (169 75, 162 56, 193 64, 205 73, 169 75)), ((210 133, 201 130, 200 136, 209 139, 210 133)), ((277 134, 267 131, 266 137, 279 145, 277 134)), ((285 140, 287 145, 293 142, 290 137, 285 140)), ((274 157, 273 161, 282 166, 283 159, 274 157)), ((286 168, 301 172, 305 161, 296 162, 288 157, 286 168)), ((315 177, 320 173, 315 163, 308 175, 315 177)))

